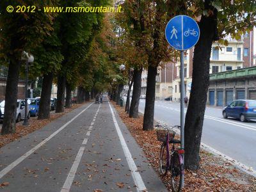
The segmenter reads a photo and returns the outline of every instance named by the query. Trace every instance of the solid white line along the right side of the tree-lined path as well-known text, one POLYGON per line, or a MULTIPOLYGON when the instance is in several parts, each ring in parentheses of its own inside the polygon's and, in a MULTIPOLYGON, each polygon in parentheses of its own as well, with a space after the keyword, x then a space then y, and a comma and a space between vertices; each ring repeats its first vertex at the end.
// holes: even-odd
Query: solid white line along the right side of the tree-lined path
POLYGON ((124 136, 122 135, 120 127, 119 127, 119 125, 116 121, 116 117, 115 117, 115 114, 114 114, 113 109, 111 107, 111 104, 109 102, 108 102, 108 104, 109 104, 109 108, 110 108, 111 113, 112 113, 113 122, 114 122, 115 127, 116 127, 116 132, 118 134, 120 143, 121 143, 122 148, 124 150, 125 158, 127 160, 129 168, 131 170, 132 178, 133 178, 134 183, 136 185, 137 191, 144 191, 147 188, 146 188, 146 186, 145 186, 145 184, 144 184, 144 182, 141 178, 140 173, 138 172, 138 168, 137 168, 136 164, 134 163, 134 160, 132 159, 131 152, 130 152, 129 148, 127 147, 127 144, 125 143, 124 136))

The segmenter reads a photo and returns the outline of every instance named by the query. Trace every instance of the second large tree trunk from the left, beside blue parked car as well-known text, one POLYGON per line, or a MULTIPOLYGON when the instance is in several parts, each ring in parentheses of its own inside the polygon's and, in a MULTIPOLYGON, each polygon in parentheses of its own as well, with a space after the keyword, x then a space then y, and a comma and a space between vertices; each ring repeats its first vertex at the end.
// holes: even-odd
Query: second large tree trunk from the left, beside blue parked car
POLYGON ((50 118, 53 73, 44 74, 38 119, 50 118))

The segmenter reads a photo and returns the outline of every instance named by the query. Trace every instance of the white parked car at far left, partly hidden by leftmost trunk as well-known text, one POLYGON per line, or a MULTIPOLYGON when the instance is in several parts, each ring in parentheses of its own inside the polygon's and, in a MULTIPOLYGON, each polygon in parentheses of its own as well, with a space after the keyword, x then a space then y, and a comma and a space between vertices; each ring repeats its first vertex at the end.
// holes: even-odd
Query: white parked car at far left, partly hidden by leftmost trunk
MULTIPOLYGON (((1 117, 0 117, 0 120, 3 121, 3 118, 4 118, 4 105, 5 105, 5 100, 3 100, 1 103, 0 103, 0 109, 1 109, 1 117)), ((25 100, 20 100, 18 99, 17 100, 17 111, 16 111, 16 122, 20 122, 20 120, 24 119, 25 118, 25 100)), ((27 117, 28 119, 30 118, 30 110, 27 106, 27 109, 28 109, 28 112, 27 112, 27 117)))

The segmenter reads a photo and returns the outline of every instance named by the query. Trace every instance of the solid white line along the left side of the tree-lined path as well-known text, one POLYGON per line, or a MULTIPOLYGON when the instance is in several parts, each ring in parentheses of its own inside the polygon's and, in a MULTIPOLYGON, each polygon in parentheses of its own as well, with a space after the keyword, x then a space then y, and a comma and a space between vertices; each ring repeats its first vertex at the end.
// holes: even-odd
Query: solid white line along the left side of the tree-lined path
MULTIPOLYGON (((92 103, 93 104, 93 103, 92 103)), ((41 143, 39 143, 38 145, 36 145, 35 147, 31 148, 31 150, 29 150, 28 152, 26 152, 26 154, 24 154, 23 156, 19 157, 18 159, 16 159, 15 161, 13 161, 13 163, 9 164, 8 166, 6 166, 6 168, 4 168, 3 170, 1 170, 0 172, 0 179, 2 177, 4 177, 4 175, 6 175, 6 173, 10 172, 10 170, 12 170, 13 168, 15 168, 15 166, 17 166, 18 164, 20 164, 24 159, 26 159, 28 156, 30 156, 31 154, 33 154, 33 152, 35 152, 35 150, 37 150, 38 148, 42 147, 43 145, 45 145, 45 143, 47 143, 47 141, 51 140, 51 138, 53 138, 54 136, 56 136, 56 134, 58 134, 60 131, 62 131, 63 129, 65 129, 65 127, 67 127, 68 124, 70 124, 71 122, 73 122, 79 115, 81 115, 82 113, 84 113, 84 111, 86 111, 88 108, 90 108, 90 106, 92 106, 92 104, 90 104, 87 108, 83 109, 83 111, 81 111, 79 114, 77 114, 76 116, 74 116, 74 118, 72 118, 70 121, 68 121, 65 125, 62 125, 60 127, 60 129, 58 129, 57 131, 55 131, 54 133, 52 133, 49 137, 47 137, 44 141, 42 141, 41 143)))

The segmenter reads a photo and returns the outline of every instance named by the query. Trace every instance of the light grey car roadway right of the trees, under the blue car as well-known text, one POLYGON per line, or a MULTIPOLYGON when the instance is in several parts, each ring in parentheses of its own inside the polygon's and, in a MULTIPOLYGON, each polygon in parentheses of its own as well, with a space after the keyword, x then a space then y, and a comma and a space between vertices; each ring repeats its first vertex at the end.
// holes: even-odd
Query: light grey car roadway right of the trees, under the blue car
MULTIPOLYGON (((141 113, 144 108, 145 100, 141 99, 141 113)), ((221 112, 220 108, 206 108, 202 143, 256 170, 256 122, 226 120, 221 112)), ((154 116, 168 125, 180 125, 180 103, 156 101, 154 116)))

